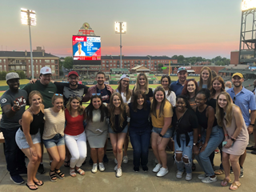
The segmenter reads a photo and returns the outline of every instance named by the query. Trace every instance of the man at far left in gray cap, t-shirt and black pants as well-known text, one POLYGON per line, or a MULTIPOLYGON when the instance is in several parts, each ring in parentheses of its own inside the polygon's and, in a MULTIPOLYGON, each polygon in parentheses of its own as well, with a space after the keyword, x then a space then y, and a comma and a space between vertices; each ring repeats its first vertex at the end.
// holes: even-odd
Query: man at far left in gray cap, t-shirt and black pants
POLYGON ((15 134, 19 129, 19 119, 25 111, 27 93, 19 88, 19 76, 17 73, 6 74, 6 82, 9 90, 2 94, 0 104, 2 107, 2 119, 0 122, 2 134, 5 138, 7 170, 10 172, 10 180, 15 184, 24 182, 20 174, 26 174, 25 154, 22 153, 15 142, 15 134))

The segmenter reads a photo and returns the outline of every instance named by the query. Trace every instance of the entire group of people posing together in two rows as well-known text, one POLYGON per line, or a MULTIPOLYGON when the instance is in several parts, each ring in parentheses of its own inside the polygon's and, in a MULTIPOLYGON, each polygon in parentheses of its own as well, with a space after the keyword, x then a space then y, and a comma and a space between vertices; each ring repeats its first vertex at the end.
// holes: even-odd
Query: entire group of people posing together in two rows
POLYGON ((234 88, 227 91, 223 79, 213 78, 208 67, 202 67, 199 82, 187 80, 184 67, 178 68, 177 74, 178 81, 172 83, 170 76, 163 75, 162 86, 154 90, 149 87, 146 74, 138 74, 133 90, 129 89, 127 74, 122 74, 116 90, 104 83, 105 74, 101 71, 96 75, 97 85, 90 88, 78 84, 75 71, 68 75, 69 83, 50 82, 51 70, 43 67, 40 80, 23 89, 18 89, 18 74, 7 74, 10 89, 1 98, 1 128, 11 180, 24 182, 20 174, 26 172, 25 154, 30 160, 26 186, 37 190, 43 185, 36 178, 37 172, 44 173, 42 143, 50 158, 51 182, 65 178, 60 170, 64 162, 70 167, 70 176, 85 174, 81 166, 87 156, 87 141, 91 172, 104 171, 109 135, 116 177, 122 176, 122 162, 128 162, 129 137, 135 172, 140 166, 143 171, 149 170, 151 144, 157 161, 152 171, 158 177, 168 174, 166 146, 172 138, 176 178, 186 172, 186 180, 192 179, 195 158, 204 171, 198 175, 202 182, 216 182, 216 175, 225 173, 221 185, 227 186, 231 182, 231 163, 234 182, 230 190, 237 190, 249 134, 255 130, 254 94, 242 86, 243 76, 239 73, 232 76, 234 88), (82 106, 88 101, 87 107, 82 106), (30 105, 27 110, 26 102, 30 105), (222 164, 214 171, 217 147, 222 150, 222 164))

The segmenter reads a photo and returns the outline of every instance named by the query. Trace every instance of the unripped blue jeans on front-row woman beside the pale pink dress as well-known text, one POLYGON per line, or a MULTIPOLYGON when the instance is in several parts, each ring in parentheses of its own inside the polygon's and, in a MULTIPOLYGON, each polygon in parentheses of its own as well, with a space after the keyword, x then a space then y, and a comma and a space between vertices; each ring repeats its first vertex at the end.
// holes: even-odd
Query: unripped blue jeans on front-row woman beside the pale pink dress
MULTIPOLYGON (((195 156, 199 165, 202 167, 203 171, 207 176, 214 175, 214 169, 210 162, 210 154, 218 147, 218 145, 223 141, 224 134, 220 126, 214 126, 211 130, 210 139, 206 146, 206 149, 195 156)), ((202 142, 206 141, 206 130, 202 133, 202 142)))

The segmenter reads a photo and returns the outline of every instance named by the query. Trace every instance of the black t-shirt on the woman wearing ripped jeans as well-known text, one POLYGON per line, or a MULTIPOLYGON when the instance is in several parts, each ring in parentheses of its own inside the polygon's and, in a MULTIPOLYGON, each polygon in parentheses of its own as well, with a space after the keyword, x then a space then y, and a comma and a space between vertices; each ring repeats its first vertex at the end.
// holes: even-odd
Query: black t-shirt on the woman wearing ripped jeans
MULTIPOLYGON (((178 124, 177 114, 176 114, 176 107, 174 107, 174 116, 172 118, 172 126, 176 129, 178 124)), ((198 128, 198 118, 197 115, 194 113, 194 110, 187 109, 181 121, 178 124, 178 129, 176 130, 179 134, 186 134, 193 129, 198 128)))

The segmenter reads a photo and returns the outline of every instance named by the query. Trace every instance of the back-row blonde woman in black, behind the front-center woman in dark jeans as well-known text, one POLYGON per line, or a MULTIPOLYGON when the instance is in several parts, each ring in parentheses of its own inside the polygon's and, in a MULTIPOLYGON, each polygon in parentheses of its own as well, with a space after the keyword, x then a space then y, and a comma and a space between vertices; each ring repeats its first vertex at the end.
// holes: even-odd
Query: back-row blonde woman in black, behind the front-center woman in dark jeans
POLYGON ((148 79, 146 78, 146 74, 138 74, 138 78, 136 80, 133 93, 136 90, 142 90, 143 92, 145 92, 147 101, 152 100, 153 90, 149 88, 149 82, 148 82, 148 79))

